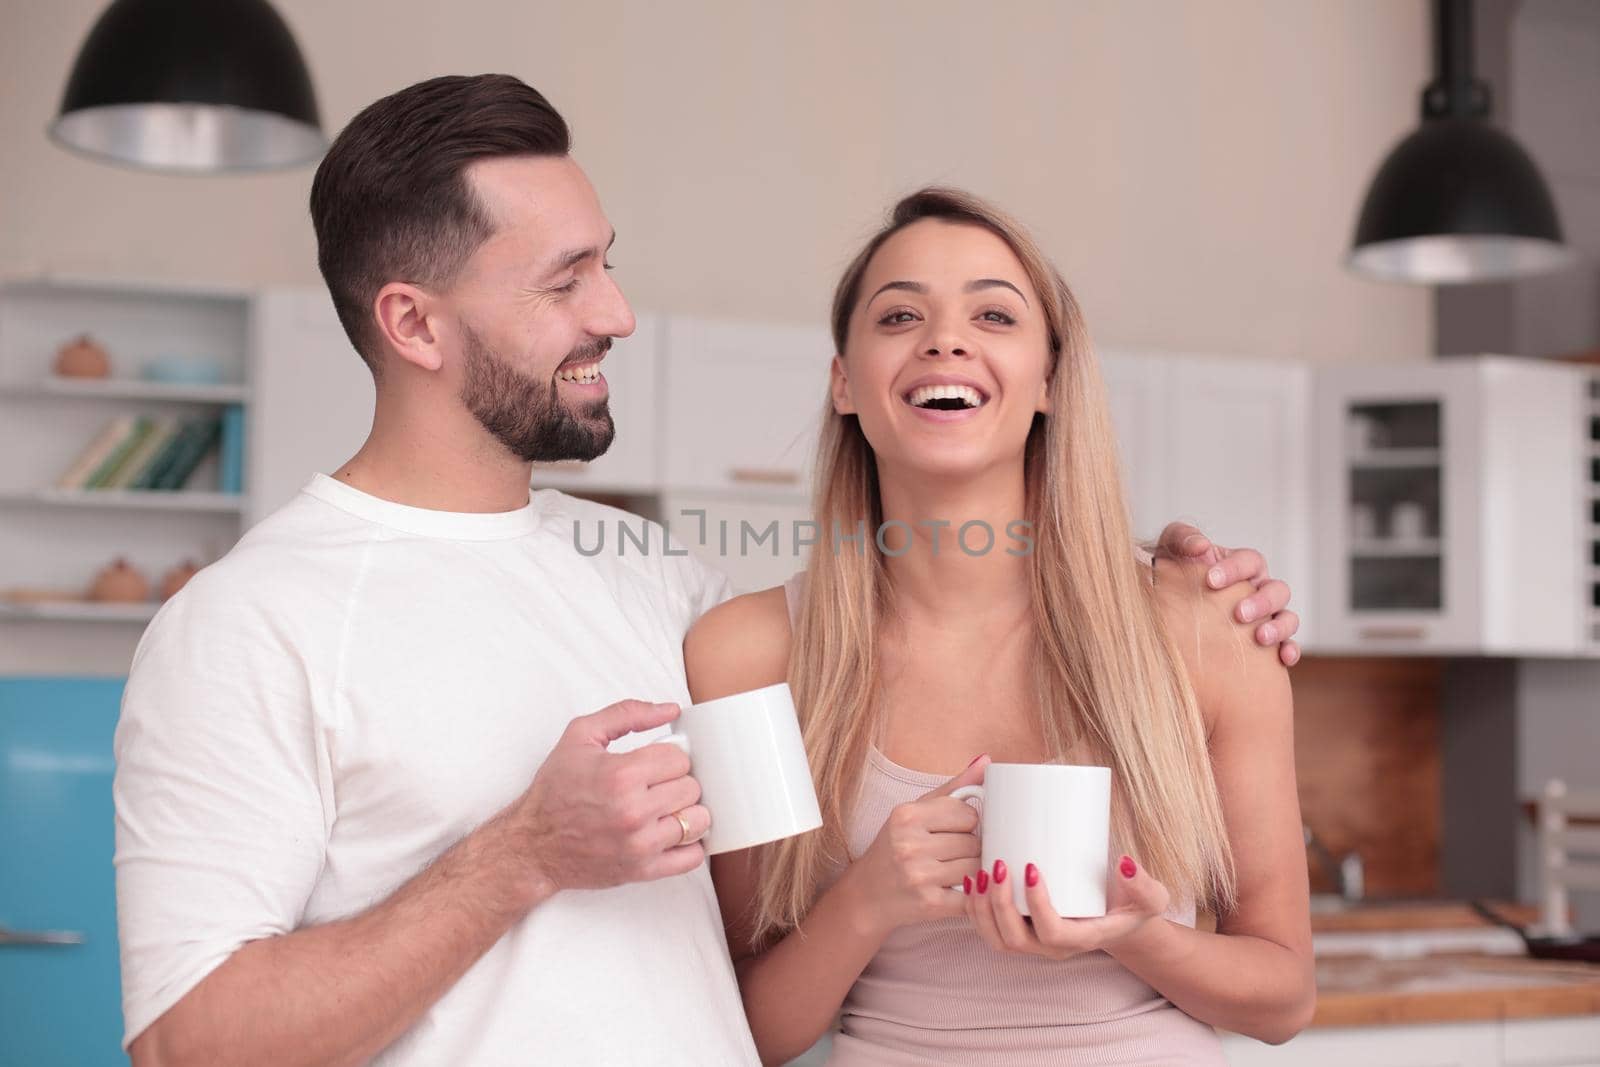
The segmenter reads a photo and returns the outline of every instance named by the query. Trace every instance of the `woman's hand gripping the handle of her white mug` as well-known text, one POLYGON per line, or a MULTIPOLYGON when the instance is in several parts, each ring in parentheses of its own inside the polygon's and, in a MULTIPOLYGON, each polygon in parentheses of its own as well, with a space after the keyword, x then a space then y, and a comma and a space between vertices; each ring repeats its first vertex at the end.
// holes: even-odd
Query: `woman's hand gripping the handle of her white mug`
POLYGON ((936 918, 960 918, 963 896, 950 886, 979 870, 978 813, 950 797, 984 779, 987 757, 920 800, 899 805, 872 845, 845 872, 874 934, 936 918))

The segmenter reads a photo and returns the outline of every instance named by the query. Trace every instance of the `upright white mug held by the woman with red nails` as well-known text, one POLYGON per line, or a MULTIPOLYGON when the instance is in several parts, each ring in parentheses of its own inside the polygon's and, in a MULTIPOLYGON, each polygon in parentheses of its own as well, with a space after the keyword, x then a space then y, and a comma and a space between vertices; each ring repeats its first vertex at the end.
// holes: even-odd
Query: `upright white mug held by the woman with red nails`
POLYGON ((1062 918, 1106 913, 1110 849, 1110 768, 1061 763, 990 763, 982 785, 950 793, 979 800, 984 870, 1003 859, 1022 915, 1027 864, 1038 867, 1062 918))

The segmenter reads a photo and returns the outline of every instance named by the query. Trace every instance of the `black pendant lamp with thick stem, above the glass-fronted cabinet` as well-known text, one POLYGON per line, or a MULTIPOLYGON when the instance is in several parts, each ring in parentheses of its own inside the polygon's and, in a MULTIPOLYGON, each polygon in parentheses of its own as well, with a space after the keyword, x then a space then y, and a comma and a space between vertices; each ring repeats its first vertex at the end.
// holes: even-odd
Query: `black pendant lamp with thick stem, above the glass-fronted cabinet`
POLYGON ((1422 126, 1378 168, 1347 261, 1382 282, 1458 285, 1565 267, 1550 190, 1515 141, 1488 123, 1472 77, 1470 0, 1434 0, 1434 80, 1422 126))

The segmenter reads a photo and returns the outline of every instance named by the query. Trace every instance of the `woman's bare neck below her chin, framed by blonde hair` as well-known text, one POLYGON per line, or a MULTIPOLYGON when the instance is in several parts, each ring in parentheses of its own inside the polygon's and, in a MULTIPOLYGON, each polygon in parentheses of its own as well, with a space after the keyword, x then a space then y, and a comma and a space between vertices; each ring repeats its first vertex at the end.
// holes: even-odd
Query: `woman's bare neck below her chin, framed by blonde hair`
POLYGON ((893 552, 883 561, 907 624, 1000 632, 1027 614, 1034 531, 1021 464, 970 478, 904 477, 880 466, 878 486, 893 552))

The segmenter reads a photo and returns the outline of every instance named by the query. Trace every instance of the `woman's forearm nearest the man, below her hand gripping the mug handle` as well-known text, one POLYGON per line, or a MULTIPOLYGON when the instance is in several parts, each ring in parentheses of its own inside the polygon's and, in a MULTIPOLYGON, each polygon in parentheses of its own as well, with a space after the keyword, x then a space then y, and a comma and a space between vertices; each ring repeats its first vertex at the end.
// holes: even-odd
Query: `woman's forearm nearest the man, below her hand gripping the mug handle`
POLYGON ((800 1056, 834 1025, 850 987, 886 936, 846 870, 798 929, 736 965, 763 1064, 800 1056))

